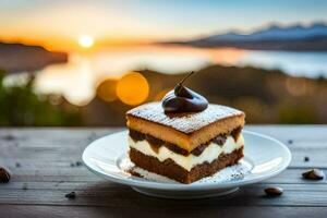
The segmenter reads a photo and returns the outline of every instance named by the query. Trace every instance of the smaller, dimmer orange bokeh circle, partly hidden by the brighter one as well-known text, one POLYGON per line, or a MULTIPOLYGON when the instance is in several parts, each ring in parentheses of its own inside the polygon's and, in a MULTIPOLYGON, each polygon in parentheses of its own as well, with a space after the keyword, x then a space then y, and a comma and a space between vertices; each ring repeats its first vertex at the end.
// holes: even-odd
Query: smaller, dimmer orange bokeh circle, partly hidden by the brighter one
POLYGON ((107 77, 97 86, 97 96, 107 102, 111 102, 117 99, 116 87, 117 80, 107 77))

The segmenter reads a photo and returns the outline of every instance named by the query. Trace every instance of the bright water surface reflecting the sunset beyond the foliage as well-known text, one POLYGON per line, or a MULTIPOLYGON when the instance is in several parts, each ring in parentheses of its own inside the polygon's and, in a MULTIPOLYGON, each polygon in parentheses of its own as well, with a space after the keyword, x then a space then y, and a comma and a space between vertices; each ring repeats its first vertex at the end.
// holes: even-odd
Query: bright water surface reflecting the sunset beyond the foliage
POLYGON ((68 63, 40 70, 36 87, 38 92, 62 94, 72 104, 85 105, 93 99, 96 85, 106 76, 120 77, 129 71, 143 69, 174 74, 217 63, 279 69, 294 76, 327 77, 327 52, 141 46, 71 53, 68 63))

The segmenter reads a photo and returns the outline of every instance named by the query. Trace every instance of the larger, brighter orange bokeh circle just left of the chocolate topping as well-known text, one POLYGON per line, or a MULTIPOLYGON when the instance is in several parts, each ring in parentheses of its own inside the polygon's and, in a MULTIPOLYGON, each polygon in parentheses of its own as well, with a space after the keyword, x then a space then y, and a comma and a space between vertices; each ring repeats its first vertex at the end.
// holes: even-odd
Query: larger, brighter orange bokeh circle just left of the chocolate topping
POLYGON ((132 72, 119 80, 116 93, 124 104, 131 106, 140 105, 147 99, 149 85, 141 73, 132 72))

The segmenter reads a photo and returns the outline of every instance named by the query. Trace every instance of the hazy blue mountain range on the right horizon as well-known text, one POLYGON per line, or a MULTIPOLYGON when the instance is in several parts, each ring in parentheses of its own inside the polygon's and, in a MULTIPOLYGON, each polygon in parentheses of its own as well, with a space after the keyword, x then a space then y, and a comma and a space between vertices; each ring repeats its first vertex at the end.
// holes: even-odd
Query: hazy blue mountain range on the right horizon
POLYGON ((168 41, 196 47, 235 47, 259 50, 313 50, 327 51, 327 24, 313 23, 258 28, 250 34, 227 32, 184 41, 168 41))

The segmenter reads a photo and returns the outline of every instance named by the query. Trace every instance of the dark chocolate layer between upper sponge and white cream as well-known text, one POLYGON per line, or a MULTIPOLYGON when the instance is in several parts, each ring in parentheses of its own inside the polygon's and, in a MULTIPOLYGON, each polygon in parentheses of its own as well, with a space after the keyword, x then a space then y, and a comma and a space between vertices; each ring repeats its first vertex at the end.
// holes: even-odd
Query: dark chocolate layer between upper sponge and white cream
POLYGON ((214 137, 213 140, 210 140, 209 142, 197 146, 192 152, 187 152, 172 143, 165 142, 162 140, 156 138, 152 135, 144 134, 144 133, 141 133, 141 132, 132 130, 132 129, 130 129, 130 136, 134 142, 146 140, 150 144, 150 147, 155 153, 158 153, 159 148, 161 146, 166 146, 171 152, 183 155, 183 156, 189 156, 190 154, 192 154, 194 156, 199 156, 211 142, 222 146, 226 143, 228 135, 232 135, 232 137, 237 141, 237 138, 239 138, 239 136, 241 134, 241 130, 242 130, 241 128, 238 128, 238 129, 233 130, 230 134, 218 135, 218 136, 214 137))

